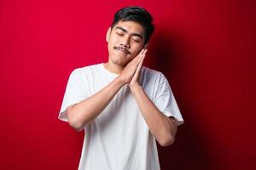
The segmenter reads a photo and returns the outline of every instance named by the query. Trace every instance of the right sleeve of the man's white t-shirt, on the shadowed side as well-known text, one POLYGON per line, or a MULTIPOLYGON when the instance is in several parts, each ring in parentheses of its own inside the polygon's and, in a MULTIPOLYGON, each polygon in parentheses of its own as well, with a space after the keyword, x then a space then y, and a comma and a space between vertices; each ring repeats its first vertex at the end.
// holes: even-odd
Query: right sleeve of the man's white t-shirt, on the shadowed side
POLYGON ((158 86, 154 105, 156 105, 156 107, 166 116, 174 117, 177 120, 177 125, 183 124, 183 116, 178 109, 169 82, 163 74, 160 75, 160 84, 158 86))

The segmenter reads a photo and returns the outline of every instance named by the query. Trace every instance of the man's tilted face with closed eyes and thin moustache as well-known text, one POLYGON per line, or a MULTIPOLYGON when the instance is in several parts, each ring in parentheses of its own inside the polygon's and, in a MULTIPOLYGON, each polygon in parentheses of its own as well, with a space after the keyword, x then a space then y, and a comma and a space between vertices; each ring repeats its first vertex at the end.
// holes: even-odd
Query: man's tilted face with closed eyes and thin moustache
POLYGON ((120 20, 113 29, 108 28, 108 62, 125 66, 144 48, 143 26, 134 21, 120 20))

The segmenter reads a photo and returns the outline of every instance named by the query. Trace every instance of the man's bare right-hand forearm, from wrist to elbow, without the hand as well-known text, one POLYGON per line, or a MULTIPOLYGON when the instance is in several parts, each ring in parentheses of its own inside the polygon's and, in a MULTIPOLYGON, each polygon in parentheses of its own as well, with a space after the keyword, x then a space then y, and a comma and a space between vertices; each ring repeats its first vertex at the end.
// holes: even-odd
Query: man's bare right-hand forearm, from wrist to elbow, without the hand
POLYGON ((176 122, 158 110, 141 86, 132 87, 131 93, 137 101, 150 132, 158 143, 162 146, 172 144, 177 131, 176 122))

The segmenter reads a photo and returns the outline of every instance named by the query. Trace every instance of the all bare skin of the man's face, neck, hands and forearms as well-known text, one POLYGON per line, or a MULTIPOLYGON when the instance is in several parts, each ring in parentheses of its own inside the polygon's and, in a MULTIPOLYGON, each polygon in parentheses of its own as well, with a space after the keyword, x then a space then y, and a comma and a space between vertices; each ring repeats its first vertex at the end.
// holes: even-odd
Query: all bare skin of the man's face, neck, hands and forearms
POLYGON ((154 138, 161 146, 174 142, 177 132, 176 120, 157 109, 139 82, 143 60, 148 51, 143 31, 143 26, 133 21, 119 21, 112 29, 108 28, 108 62, 104 63, 104 67, 119 76, 88 99, 67 107, 71 127, 82 130, 101 114, 119 89, 128 84, 154 138))

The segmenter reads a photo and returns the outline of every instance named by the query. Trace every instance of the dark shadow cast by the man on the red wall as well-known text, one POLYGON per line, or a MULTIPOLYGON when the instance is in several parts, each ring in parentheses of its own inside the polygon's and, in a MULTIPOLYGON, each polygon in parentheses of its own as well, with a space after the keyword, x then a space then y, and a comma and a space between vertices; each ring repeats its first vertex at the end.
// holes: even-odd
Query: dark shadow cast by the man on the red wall
POLYGON ((186 94, 183 94, 183 91, 187 91, 183 88, 189 86, 189 84, 183 84, 182 80, 186 78, 183 77, 183 74, 186 74, 184 71, 187 71, 183 65, 183 58, 189 56, 186 46, 182 37, 170 32, 155 34, 150 44, 150 54, 154 56, 150 58, 153 59, 150 67, 163 72, 169 82, 172 80, 172 83, 170 82, 171 86, 174 85, 172 91, 175 92, 177 105, 184 119, 184 124, 178 127, 175 143, 168 147, 158 145, 161 170, 212 169, 214 167, 208 153, 210 149, 207 148, 199 130, 196 130, 198 120, 193 117, 197 112, 196 108, 191 105, 186 94))

